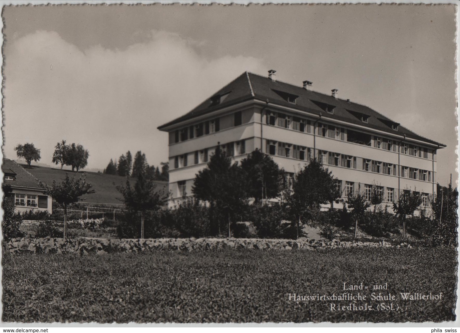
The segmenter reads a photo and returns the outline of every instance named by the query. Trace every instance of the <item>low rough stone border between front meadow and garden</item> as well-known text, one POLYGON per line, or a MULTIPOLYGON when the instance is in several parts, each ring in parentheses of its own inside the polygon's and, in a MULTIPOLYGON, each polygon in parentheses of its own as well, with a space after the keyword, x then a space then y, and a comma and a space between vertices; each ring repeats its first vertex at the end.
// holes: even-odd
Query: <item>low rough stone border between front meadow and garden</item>
MULTIPOLYGON (((393 247, 385 241, 345 242, 337 239, 332 241, 290 240, 290 239, 96 239, 79 237, 76 239, 62 238, 20 238, 11 239, 6 244, 10 253, 79 253, 106 254, 110 252, 140 252, 145 250, 200 251, 220 249, 254 249, 254 250, 315 250, 337 247, 393 247)), ((401 243, 397 247, 411 247, 401 243)))

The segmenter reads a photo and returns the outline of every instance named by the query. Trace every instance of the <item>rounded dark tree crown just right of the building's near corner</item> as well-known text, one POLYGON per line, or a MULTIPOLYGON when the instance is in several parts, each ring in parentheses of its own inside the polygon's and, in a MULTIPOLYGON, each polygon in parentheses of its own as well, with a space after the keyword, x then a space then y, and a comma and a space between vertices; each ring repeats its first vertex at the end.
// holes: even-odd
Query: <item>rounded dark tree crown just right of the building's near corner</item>
POLYGON ((256 149, 241 161, 247 174, 247 194, 255 201, 276 198, 281 191, 282 170, 270 155, 256 149))

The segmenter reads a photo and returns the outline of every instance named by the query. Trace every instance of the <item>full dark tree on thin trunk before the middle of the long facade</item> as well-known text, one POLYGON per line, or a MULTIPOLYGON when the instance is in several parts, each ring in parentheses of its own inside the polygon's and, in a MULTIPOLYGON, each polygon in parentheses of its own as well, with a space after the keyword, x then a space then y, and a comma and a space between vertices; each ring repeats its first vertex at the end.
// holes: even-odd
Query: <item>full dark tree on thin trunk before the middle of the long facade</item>
POLYGON ((314 208, 340 198, 337 181, 332 172, 325 169, 316 159, 311 160, 294 176, 293 193, 288 197, 288 204, 297 221, 297 236, 303 216, 311 218, 314 208))

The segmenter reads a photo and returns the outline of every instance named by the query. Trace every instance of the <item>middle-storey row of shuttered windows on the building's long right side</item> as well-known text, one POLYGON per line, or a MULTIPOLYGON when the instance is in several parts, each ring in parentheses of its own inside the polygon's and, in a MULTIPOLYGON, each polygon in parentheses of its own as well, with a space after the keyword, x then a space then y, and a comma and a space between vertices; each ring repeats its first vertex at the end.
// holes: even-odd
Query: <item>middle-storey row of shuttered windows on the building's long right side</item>
MULTIPOLYGON (((311 148, 299 146, 296 144, 277 142, 273 140, 267 140, 266 151, 270 155, 291 157, 302 161, 311 161, 312 156, 311 148)), ((355 156, 318 150, 318 160, 323 164, 357 169, 357 158, 355 156)), ((364 171, 397 176, 396 169, 396 164, 362 159, 362 170, 364 171)), ((421 170, 413 167, 401 167, 401 177, 431 182, 431 171, 421 170)))

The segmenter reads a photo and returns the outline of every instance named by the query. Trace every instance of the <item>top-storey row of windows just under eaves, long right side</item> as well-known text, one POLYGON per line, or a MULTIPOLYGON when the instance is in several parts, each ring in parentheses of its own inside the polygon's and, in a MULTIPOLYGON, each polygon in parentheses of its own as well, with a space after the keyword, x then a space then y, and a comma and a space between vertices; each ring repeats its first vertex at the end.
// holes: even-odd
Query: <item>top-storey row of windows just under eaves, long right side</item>
MULTIPOLYGON (((312 132, 311 120, 299 117, 291 117, 283 113, 268 113, 267 124, 282 128, 289 128, 299 132, 312 132)), ((333 125, 326 125, 320 122, 318 123, 317 128, 317 134, 322 137, 345 141, 346 132, 346 141, 368 146, 372 145, 372 136, 370 134, 353 131, 351 129, 335 127, 333 125)), ((374 135, 374 148, 396 152, 398 151, 398 143, 396 140, 386 139, 374 135)), ((419 147, 412 144, 402 143, 401 153, 411 156, 428 158, 428 148, 419 147)))

